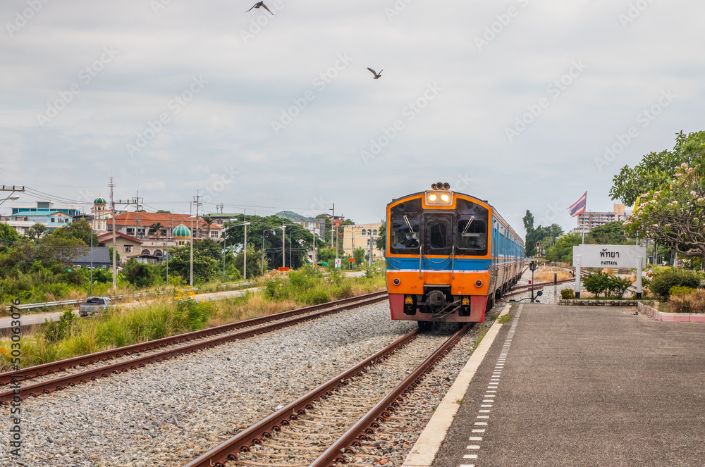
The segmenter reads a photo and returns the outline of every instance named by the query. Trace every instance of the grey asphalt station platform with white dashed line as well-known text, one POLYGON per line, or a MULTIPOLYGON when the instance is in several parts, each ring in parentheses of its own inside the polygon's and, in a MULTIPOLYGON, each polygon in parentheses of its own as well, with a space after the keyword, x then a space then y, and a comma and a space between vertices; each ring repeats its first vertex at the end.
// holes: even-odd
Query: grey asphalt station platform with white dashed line
POLYGON ((705 323, 505 311, 513 319, 490 329, 465 392, 451 387, 405 467, 705 466, 705 323))

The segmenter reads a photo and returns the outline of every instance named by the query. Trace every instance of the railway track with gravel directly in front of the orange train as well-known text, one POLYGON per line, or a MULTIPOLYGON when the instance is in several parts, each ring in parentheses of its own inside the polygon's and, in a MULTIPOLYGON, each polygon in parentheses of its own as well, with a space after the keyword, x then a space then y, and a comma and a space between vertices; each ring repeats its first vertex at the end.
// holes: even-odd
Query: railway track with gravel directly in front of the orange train
POLYGON ((328 467, 348 461, 471 327, 455 332, 431 356, 429 342, 439 336, 414 330, 186 467, 328 467))

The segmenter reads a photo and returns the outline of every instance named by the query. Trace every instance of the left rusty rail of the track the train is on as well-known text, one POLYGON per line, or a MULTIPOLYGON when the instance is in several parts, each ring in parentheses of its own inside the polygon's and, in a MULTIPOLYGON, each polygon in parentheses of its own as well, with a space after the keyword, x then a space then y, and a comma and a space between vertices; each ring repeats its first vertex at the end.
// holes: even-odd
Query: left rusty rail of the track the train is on
POLYGON ((250 450, 252 444, 261 444, 263 439, 271 436, 271 432, 281 430, 283 425, 288 425, 289 421, 295 420, 299 415, 305 413, 306 409, 312 409, 315 402, 326 399, 333 394, 333 390, 346 385, 345 380, 352 378, 355 375, 362 375, 365 371, 364 367, 369 366, 374 362, 386 359, 386 357, 397 351, 400 347, 410 342, 417 337, 419 330, 415 329, 404 337, 396 340, 384 349, 376 352, 376 354, 364 359, 353 368, 344 371, 343 373, 332 378, 328 382, 324 382, 319 387, 315 388, 299 397, 282 409, 271 413, 271 415, 262 418, 261 421, 250 426, 246 430, 239 432, 230 440, 219 444, 208 452, 197 457, 193 461, 186 464, 185 467, 223 467, 227 461, 234 461, 240 452, 250 450))

